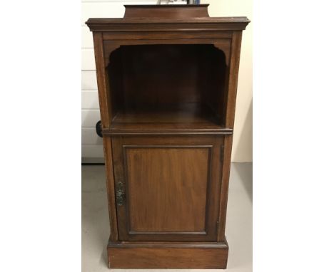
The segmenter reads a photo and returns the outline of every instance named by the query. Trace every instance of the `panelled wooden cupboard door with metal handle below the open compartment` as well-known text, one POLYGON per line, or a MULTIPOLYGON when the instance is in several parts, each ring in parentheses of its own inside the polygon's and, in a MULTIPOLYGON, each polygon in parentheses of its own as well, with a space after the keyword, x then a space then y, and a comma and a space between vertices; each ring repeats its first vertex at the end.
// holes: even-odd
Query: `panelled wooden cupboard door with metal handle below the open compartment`
POLYGON ((223 137, 113 137, 121 241, 215 241, 223 137))

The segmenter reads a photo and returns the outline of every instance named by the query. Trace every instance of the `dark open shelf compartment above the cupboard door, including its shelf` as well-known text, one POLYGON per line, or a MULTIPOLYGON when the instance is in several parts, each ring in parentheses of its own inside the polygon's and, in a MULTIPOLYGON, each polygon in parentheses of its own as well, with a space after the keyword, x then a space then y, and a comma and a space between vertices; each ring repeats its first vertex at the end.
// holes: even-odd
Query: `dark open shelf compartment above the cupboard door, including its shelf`
POLYGON ((105 134, 222 133, 226 59, 212 44, 120 46, 107 66, 105 134))

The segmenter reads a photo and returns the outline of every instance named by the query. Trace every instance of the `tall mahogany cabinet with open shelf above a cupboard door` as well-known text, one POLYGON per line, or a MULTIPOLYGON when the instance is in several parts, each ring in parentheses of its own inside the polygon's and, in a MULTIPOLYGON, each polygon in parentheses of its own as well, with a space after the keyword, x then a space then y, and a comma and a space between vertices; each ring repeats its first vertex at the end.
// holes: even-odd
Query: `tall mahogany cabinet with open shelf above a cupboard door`
MULTIPOLYGON (((228 179, 246 17, 126 5, 93 31, 110 268, 226 268, 228 179)), ((96 222, 98 224, 98 222, 96 222)))

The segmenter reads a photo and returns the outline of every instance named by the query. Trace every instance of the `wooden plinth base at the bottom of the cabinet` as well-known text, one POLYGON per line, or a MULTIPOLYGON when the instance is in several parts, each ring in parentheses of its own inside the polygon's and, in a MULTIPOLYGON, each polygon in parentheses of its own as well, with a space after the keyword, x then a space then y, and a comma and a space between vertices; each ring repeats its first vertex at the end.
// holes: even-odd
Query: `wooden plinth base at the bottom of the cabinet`
POLYGON ((226 268, 227 243, 108 244, 109 268, 226 268))

